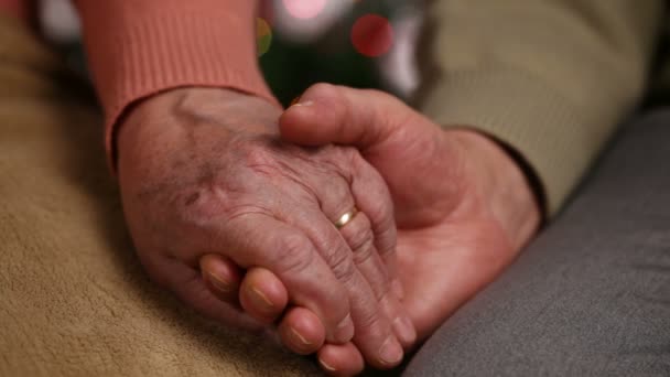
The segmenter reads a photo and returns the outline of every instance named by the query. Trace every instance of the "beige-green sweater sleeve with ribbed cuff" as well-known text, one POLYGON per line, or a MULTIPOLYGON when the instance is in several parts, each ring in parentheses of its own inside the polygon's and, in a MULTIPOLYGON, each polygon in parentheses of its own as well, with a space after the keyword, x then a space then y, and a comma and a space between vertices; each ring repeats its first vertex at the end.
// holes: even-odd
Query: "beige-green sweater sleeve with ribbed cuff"
POLYGON ((508 144, 554 214, 641 97, 661 0, 434 0, 422 110, 508 144))

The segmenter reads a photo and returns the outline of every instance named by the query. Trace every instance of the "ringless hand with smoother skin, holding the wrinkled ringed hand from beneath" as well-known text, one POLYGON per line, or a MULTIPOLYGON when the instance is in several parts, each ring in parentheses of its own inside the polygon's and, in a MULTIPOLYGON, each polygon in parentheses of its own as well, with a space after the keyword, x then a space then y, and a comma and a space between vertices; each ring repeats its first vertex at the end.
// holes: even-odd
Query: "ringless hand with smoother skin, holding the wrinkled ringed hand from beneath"
MULTIPOLYGON (((488 138, 443 130, 374 90, 321 84, 300 105, 280 119, 283 140, 356 147, 386 180, 403 305, 420 340, 494 280, 537 230, 540 211, 523 173, 488 138)), ((350 347, 325 345, 320 357, 342 373, 363 367, 350 347)))

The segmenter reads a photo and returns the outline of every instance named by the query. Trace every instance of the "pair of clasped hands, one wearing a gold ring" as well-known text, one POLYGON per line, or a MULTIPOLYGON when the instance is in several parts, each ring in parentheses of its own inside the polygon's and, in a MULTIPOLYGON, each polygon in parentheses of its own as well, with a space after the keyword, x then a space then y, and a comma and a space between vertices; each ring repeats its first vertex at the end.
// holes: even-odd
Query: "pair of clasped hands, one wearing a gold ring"
POLYGON ((129 114, 118 148, 150 276, 223 323, 278 323, 335 375, 398 365, 540 219, 497 143, 374 90, 317 85, 283 115, 235 91, 172 90, 129 114))

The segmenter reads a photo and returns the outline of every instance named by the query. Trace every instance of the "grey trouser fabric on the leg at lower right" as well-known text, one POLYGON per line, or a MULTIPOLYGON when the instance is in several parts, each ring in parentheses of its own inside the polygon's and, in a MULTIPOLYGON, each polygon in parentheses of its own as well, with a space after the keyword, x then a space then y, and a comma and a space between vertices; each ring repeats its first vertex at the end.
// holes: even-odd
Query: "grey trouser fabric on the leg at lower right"
POLYGON ((670 110, 628 125, 404 376, 670 376, 670 110))

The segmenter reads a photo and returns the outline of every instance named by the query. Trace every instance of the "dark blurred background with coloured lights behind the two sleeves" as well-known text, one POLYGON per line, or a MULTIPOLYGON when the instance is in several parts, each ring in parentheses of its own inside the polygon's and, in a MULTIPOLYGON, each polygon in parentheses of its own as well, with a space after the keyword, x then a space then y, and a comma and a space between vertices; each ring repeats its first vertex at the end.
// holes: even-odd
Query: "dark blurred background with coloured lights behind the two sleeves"
MULTIPOLYGON (((288 105, 320 82, 378 88, 403 99, 420 77, 414 62, 421 1, 262 0, 258 56, 268 84, 288 105)), ((71 0, 42 0, 42 28, 85 72, 79 23, 71 0)))

